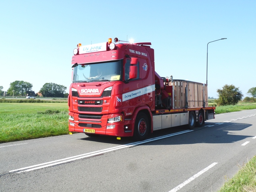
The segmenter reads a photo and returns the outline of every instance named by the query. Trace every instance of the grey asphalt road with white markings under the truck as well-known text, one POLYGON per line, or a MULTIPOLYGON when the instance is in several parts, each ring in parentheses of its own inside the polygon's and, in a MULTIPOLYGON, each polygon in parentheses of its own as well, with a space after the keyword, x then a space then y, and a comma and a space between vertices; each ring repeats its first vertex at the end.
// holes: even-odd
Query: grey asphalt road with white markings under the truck
POLYGON ((214 192, 256 155, 256 110, 144 142, 73 134, 0 144, 0 191, 214 192))

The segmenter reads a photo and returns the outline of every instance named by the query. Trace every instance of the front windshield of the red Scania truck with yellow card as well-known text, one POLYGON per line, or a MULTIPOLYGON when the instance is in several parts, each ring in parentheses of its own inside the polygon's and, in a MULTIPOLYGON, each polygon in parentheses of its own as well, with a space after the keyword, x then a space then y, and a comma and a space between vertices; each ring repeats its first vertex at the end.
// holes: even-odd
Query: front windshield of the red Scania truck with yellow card
POLYGON ((74 67, 73 82, 118 81, 121 79, 122 60, 79 64, 74 67))

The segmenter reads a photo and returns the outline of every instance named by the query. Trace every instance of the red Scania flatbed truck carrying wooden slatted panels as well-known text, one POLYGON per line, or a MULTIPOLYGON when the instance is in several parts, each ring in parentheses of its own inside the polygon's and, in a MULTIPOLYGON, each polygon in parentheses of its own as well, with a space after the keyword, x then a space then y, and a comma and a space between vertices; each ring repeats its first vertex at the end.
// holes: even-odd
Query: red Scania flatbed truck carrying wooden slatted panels
POLYGON ((144 140, 154 130, 193 129, 214 118, 207 85, 160 77, 150 45, 118 38, 77 45, 68 96, 70 132, 144 140))

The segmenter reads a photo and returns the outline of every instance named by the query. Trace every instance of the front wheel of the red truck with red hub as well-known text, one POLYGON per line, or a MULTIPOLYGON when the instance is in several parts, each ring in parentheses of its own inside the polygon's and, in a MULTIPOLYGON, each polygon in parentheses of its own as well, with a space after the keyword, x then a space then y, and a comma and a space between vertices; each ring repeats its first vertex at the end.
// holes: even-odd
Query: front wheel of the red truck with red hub
POLYGON ((148 116, 144 113, 139 113, 135 120, 133 139, 142 141, 148 136, 149 123, 148 116))

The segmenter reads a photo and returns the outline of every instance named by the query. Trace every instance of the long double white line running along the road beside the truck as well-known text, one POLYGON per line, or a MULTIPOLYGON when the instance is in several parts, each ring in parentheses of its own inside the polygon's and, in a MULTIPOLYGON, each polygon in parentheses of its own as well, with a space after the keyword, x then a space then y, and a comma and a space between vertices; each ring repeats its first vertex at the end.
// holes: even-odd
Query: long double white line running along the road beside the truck
POLYGON ((57 165, 57 164, 63 164, 63 163, 66 163, 66 162, 70 162, 70 161, 74 161, 74 160, 78 160, 78 159, 82 159, 82 158, 87 158, 87 157, 92 157, 92 156, 104 154, 106 152, 110 152, 110 151, 114 151, 114 150, 129 148, 129 147, 149 143, 149 142, 152 142, 152 141, 156 141, 156 140, 160 140, 160 139, 164 139, 164 138, 168 138, 168 137, 172 137, 172 136, 176 136, 176 135, 180 135, 180 134, 184 134, 184 133, 192 132, 192 131, 193 130, 185 130, 185 131, 182 131, 182 132, 168 134, 168 135, 160 136, 160 137, 156 137, 156 138, 151 138, 151 139, 147 139, 147 140, 140 141, 140 142, 134 142, 134 143, 130 143, 130 144, 120 145, 120 146, 107 148, 107 149, 103 149, 103 150, 98 150, 98 151, 94 151, 94 152, 90 152, 90 153, 86 153, 86 154, 72 156, 72 157, 68 157, 68 158, 64 158, 64 159, 60 159, 60 160, 55 160, 55 161, 51 161, 51 162, 46 162, 46 163, 42 163, 42 164, 37 164, 37 165, 33 165, 33 166, 19 168, 19 169, 16 169, 16 170, 11 170, 9 172, 18 172, 18 173, 28 172, 28 171, 32 171, 32 170, 36 170, 36 169, 41 169, 41 168, 45 168, 45 167, 54 166, 54 165, 57 165))

